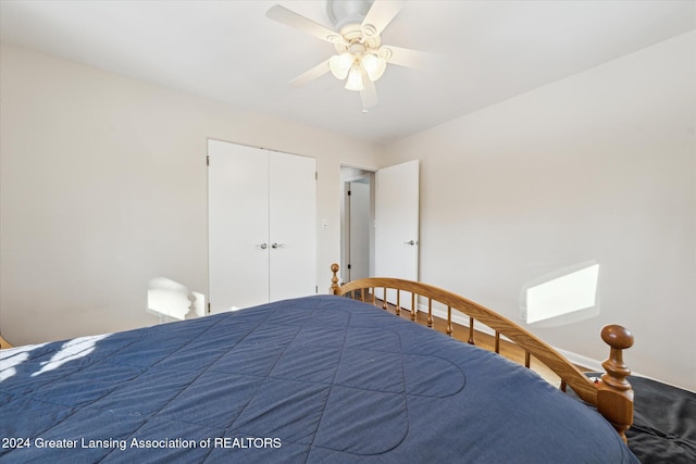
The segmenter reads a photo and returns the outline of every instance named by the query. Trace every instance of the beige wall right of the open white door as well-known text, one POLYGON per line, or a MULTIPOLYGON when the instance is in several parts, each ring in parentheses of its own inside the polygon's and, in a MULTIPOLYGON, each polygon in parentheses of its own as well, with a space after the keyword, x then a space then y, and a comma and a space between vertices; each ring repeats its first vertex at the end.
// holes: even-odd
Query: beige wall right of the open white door
POLYGON ((530 329, 604 360, 624 324, 635 372, 696 390, 694 83, 691 33, 389 146, 422 160, 421 279, 517 319, 526 284, 595 261, 599 315, 530 329))

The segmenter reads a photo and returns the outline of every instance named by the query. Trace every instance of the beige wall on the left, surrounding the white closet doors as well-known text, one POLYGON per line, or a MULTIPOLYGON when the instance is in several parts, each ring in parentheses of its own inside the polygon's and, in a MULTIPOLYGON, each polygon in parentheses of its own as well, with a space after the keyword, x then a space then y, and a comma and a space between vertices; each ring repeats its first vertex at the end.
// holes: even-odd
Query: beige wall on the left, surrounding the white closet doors
POLYGON ((14 344, 158 322, 147 286, 208 293, 207 139, 316 158, 318 284, 340 258, 340 163, 382 149, 2 46, 0 330, 14 344))

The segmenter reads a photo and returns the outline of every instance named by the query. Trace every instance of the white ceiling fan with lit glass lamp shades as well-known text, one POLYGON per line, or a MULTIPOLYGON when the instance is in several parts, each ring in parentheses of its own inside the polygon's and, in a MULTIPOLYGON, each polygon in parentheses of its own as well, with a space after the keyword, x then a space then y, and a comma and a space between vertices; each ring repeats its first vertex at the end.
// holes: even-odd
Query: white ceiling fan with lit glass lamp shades
POLYGON ((377 104, 374 83, 387 64, 419 67, 425 53, 394 46, 383 46, 381 34, 399 13, 405 0, 327 0, 328 17, 336 30, 330 29, 278 4, 266 17, 295 27, 332 43, 336 53, 290 80, 301 86, 328 72, 346 80, 346 89, 360 92, 362 111, 377 104))

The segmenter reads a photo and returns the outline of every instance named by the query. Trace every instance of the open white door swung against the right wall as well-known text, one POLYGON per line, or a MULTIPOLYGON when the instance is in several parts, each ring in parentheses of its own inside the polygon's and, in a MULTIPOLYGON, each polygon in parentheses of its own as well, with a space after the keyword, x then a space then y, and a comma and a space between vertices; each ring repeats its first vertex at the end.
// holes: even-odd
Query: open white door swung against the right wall
MULTIPOLYGON (((375 274, 418 280, 420 163, 385 167, 376 174, 375 274)), ((391 303, 396 298, 387 298, 391 303)), ((410 297, 401 306, 410 306, 410 297), (407 304, 408 303, 408 304, 407 304)))

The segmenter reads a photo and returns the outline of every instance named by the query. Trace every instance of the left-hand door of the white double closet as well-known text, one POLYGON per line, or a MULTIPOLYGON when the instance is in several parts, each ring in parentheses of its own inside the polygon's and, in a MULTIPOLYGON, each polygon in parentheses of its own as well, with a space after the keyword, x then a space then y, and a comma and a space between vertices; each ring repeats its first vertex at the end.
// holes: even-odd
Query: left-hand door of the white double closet
POLYGON ((210 312, 269 301, 269 155, 209 140, 210 312))

